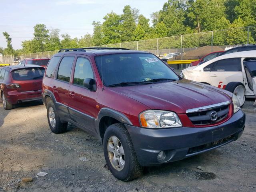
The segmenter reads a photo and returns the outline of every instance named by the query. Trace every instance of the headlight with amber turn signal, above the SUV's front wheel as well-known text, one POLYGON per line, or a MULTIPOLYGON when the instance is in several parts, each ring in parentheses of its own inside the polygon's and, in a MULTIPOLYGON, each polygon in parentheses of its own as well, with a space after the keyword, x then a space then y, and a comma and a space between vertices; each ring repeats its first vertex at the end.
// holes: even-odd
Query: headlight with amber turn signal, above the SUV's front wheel
POLYGON ((144 128, 182 127, 178 115, 170 111, 147 110, 139 115, 139 119, 144 128))

